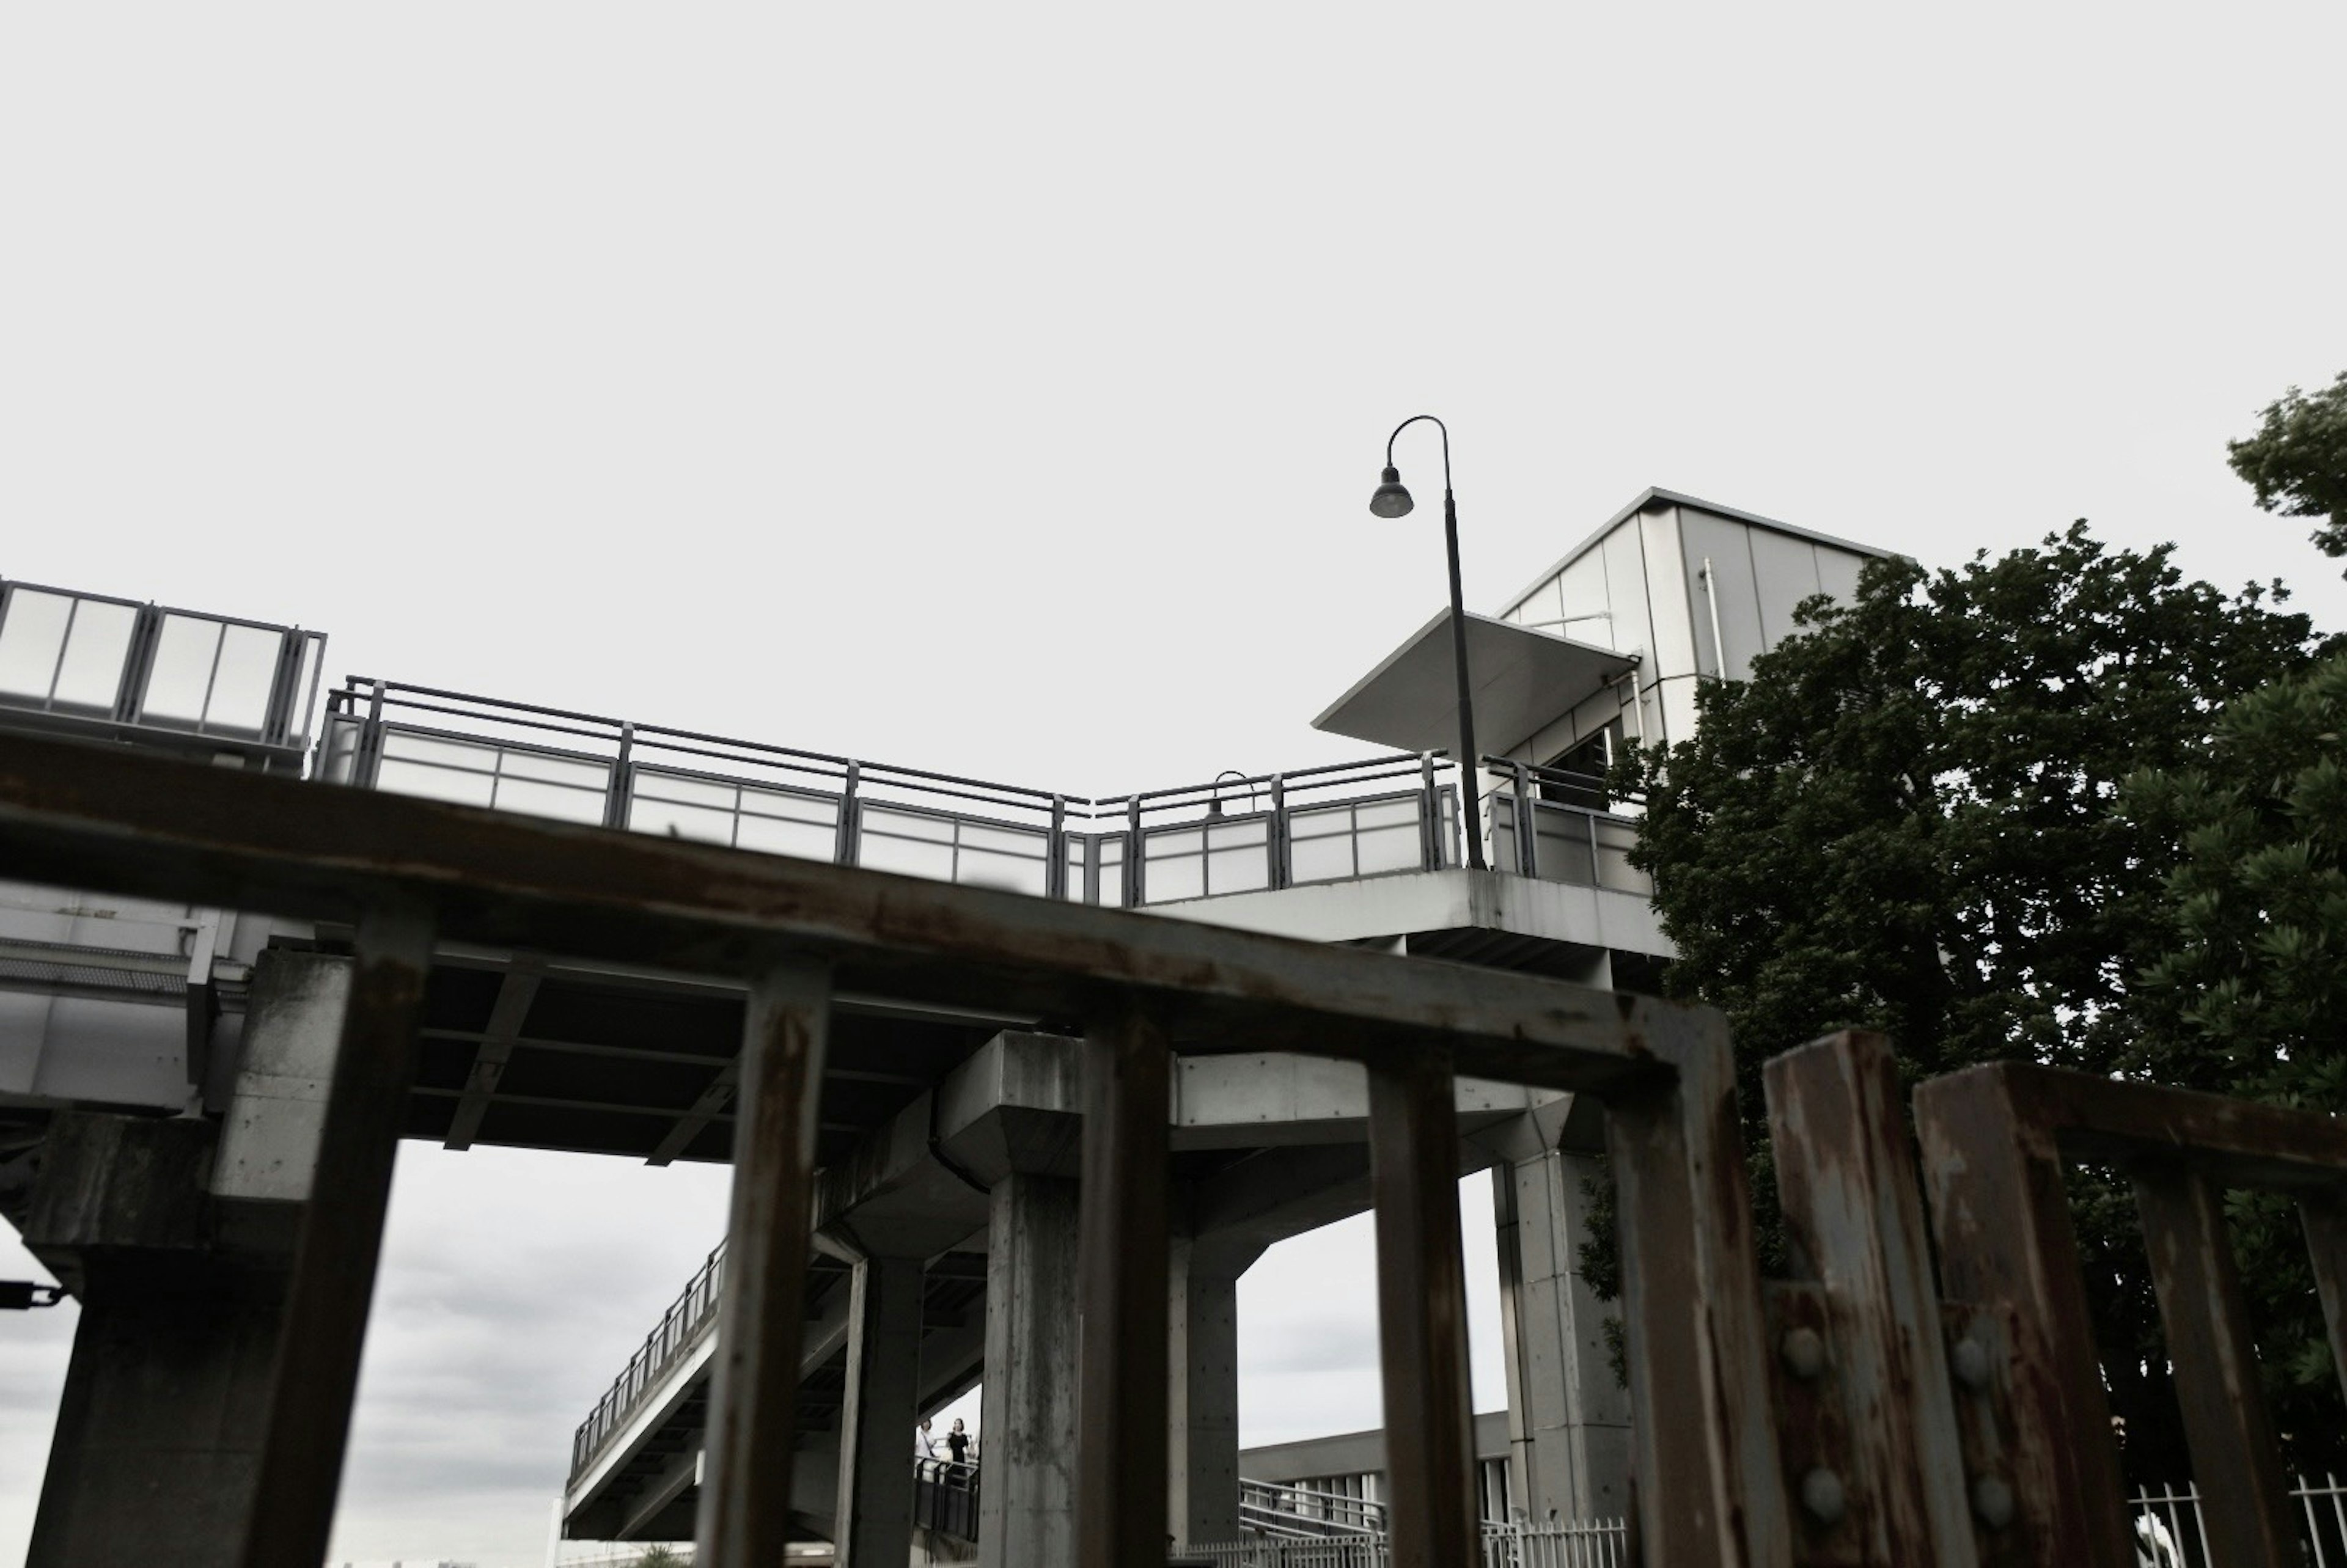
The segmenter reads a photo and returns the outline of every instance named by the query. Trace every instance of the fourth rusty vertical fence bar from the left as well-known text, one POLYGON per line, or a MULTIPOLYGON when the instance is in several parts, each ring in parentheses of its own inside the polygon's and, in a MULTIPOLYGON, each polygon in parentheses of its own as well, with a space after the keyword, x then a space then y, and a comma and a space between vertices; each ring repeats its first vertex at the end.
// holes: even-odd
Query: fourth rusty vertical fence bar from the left
POLYGON ((1481 1559, 1448 1049, 1427 1045, 1368 1068, 1368 1183, 1378 1204, 1392 1568, 1469 1568, 1481 1559))

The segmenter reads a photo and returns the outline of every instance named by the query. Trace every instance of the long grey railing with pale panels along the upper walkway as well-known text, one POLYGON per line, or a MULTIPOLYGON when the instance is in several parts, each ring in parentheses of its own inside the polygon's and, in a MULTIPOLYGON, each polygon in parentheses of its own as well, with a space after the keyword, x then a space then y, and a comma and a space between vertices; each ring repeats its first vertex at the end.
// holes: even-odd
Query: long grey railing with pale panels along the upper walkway
MULTIPOLYGON (((1582 805, 1598 779, 1483 768, 1514 779, 1493 864, 1650 892, 1636 822, 1582 805)), ((1462 861, 1455 768, 1432 751, 1094 798, 352 678, 326 697, 317 777, 1124 908, 1462 861)))

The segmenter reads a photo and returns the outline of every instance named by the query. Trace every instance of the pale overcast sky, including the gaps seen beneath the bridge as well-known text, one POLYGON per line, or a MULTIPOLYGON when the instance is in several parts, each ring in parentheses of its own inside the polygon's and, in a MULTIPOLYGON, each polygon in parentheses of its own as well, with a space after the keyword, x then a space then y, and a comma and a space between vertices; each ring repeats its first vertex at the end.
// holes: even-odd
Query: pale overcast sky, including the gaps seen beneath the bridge
MULTIPOLYGON (((2340 59, 2335 0, 0 7, 0 575, 1110 793, 1357 751, 1436 411, 1486 610, 1664 484, 2342 627, 2223 462, 2347 366, 2340 59)), ((336 1556, 535 1563, 721 1188, 408 1150, 336 1556)), ((1249 1441, 1375 1420, 1364 1235, 1249 1277, 1249 1441)), ((0 1559, 68 1329, 0 1322, 0 1559)))

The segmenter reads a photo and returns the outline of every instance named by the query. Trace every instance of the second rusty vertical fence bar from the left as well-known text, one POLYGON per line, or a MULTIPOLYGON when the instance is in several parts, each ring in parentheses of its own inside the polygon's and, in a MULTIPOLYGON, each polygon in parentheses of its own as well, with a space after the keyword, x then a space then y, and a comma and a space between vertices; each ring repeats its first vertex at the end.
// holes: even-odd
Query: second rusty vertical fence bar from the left
POLYGON ((807 1209, 831 974, 784 960, 751 981, 735 1101, 732 1214, 695 1528, 704 1568, 775 1568, 791 1535, 791 1427, 807 1310, 807 1209))

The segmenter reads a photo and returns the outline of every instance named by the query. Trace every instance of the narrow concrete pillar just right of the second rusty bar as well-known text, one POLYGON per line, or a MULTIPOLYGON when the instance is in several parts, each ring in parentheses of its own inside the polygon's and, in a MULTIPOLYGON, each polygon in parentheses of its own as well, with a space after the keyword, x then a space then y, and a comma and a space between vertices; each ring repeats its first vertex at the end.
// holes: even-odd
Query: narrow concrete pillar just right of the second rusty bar
POLYGON ((899 1568, 913 1554, 920 1277, 920 1258, 864 1258, 847 1284, 838 1568, 899 1568))

